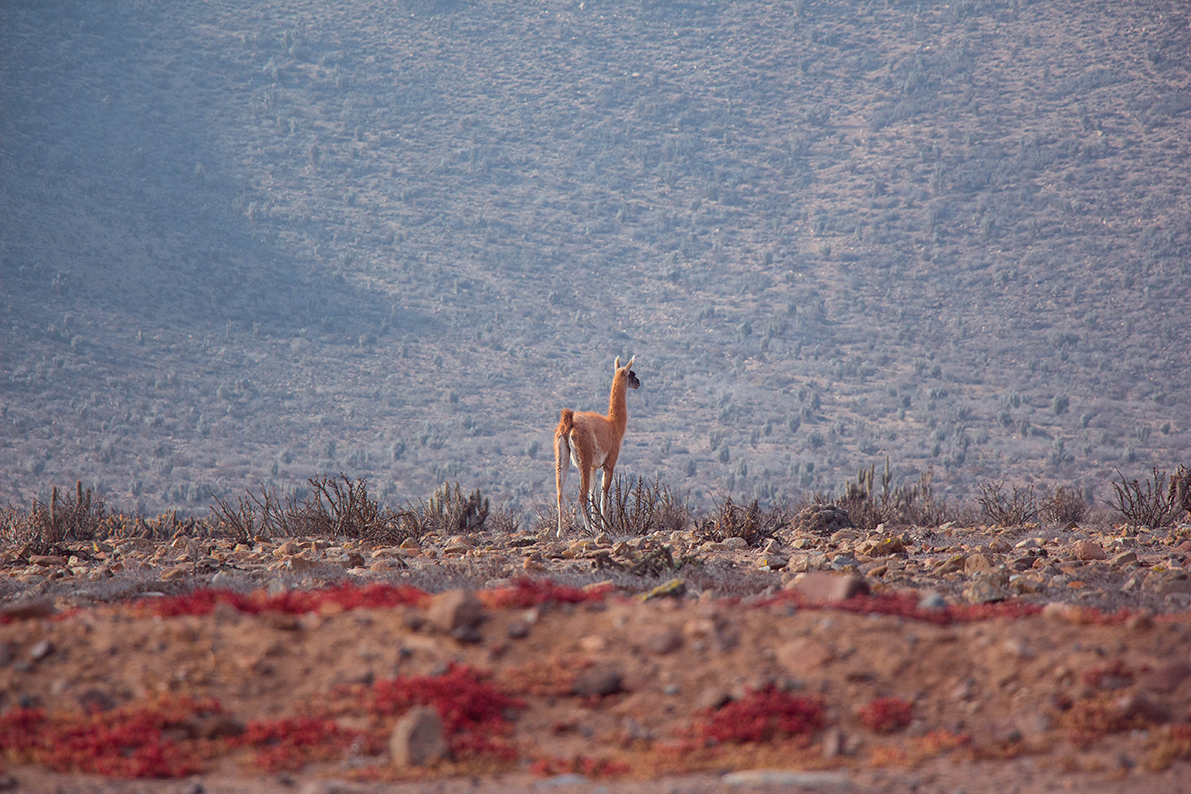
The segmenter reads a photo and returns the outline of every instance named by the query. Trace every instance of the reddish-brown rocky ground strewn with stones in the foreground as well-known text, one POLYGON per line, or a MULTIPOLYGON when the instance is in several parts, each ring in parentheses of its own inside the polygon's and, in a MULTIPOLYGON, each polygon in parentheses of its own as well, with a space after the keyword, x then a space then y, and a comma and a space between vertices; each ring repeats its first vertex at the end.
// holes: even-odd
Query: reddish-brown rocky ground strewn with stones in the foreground
POLYGON ((374 548, 179 536, 11 549, 0 584, 6 784, 1181 790, 1191 542, 1180 531, 705 537, 479 532, 374 548), (195 588, 225 594, 204 600, 195 588), (518 700, 497 731, 504 755, 456 748, 425 767, 400 763, 411 750, 389 739, 404 708, 382 713, 366 695, 460 671, 518 700), (183 780, 75 776, 13 749, 21 708, 116 719, 163 696, 220 707, 216 727, 211 714, 166 726, 167 744, 207 748, 183 780), (817 711, 797 730, 741 740, 742 725, 788 708, 817 711), (254 721, 303 715, 332 721, 339 738, 281 764, 218 745, 254 721))

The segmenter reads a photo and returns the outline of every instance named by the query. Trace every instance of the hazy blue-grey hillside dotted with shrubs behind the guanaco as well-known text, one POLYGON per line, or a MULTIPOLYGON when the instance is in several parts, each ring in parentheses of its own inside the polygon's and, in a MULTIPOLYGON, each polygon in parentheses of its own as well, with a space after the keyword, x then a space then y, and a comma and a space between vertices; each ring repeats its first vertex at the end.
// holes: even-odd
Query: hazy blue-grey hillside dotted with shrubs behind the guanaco
POLYGON ((0 501, 965 499, 1186 462, 1170 2, 0 7, 0 501))

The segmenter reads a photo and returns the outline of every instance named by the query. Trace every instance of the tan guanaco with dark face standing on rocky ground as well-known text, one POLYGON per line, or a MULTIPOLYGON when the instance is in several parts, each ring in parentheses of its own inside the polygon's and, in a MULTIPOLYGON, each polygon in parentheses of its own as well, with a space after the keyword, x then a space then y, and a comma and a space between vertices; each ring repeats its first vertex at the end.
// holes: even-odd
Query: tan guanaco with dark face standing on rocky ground
POLYGON ((579 499, 582 506, 584 526, 590 532, 591 521, 591 484, 596 469, 603 469, 600 477, 600 517, 607 512, 607 492, 612 487, 612 470, 616 458, 621 455, 621 442, 624 429, 629 424, 629 412, 625 405, 625 389, 641 388, 637 374, 632 371, 632 362, 621 367, 621 357, 616 357, 616 371, 612 375, 612 395, 607 402, 607 415, 591 411, 572 411, 563 408, 559 427, 554 431, 554 468, 555 484, 559 488, 559 536, 562 537, 562 489, 567 484, 567 473, 570 462, 579 467, 579 499))

